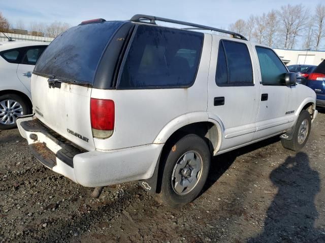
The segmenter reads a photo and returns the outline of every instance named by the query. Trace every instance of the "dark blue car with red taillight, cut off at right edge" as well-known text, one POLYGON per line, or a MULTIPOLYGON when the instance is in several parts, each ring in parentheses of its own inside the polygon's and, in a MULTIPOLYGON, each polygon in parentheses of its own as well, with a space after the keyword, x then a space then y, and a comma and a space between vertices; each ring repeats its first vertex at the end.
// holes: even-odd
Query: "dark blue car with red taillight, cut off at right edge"
POLYGON ((325 108, 325 61, 309 74, 306 85, 316 93, 316 105, 325 108))

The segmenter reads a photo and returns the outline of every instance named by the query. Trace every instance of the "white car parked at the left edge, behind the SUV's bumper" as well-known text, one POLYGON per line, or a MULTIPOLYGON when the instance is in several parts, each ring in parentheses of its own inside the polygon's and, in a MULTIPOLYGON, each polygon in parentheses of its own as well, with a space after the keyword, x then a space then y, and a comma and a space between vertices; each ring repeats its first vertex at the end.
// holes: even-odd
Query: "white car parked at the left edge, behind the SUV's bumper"
POLYGON ((0 129, 32 112, 30 77, 45 42, 0 42, 0 129))

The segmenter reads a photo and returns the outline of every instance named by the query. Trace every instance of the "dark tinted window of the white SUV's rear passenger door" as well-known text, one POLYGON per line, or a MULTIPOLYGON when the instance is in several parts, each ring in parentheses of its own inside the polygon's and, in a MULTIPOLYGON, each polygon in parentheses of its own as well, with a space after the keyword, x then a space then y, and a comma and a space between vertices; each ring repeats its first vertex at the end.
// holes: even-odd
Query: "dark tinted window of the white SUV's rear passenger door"
POLYGON ((215 80, 218 86, 254 85, 252 63, 246 44, 220 41, 215 80))

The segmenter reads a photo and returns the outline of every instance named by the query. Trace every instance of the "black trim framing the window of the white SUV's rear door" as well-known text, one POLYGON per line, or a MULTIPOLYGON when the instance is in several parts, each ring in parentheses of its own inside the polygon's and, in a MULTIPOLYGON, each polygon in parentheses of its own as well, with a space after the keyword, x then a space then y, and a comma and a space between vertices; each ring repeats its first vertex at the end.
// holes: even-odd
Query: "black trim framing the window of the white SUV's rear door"
MULTIPOLYGON (((216 77, 215 78, 215 84, 218 86, 218 87, 246 87, 246 86, 255 86, 255 79, 254 79, 254 69, 253 69, 253 60, 252 60, 252 56, 251 56, 251 53, 249 51, 249 48, 248 48, 248 45, 246 44, 246 42, 237 42, 237 41, 233 41, 233 40, 230 40, 230 39, 220 39, 219 40, 219 47, 218 47, 218 53, 217 53, 217 65, 216 65, 216 73, 217 74, 217 66, 218 66, 218 55, 219 55, 219 48, 220 48, 220 45, 222 45, 222 48, 223 48, 223 52, 224 52, 224 56, 225 56, 225 60, 226 60, 226 66, 227 66, 227 84, 217 84, 217 79, 216 77), (230 72, 229 72, 229 65, 228 65, 228 56, 226 55, 226 51, 225 51, 225 48, 224 48, 224 45, 223 45, 223 41, 226 41, 226 42, 235 42, 235 43, 240 43, 240 44, 244 44, 247 48, 247 51, 248 51, 248 55, 249 55, 249 58, 250 58, 250 66, 252 68, 252 83, 232 83, 232 84, 229 84, 229 79, 230 79, 230 72)), ((216 75, 215 75, 216 76, 216 75)))

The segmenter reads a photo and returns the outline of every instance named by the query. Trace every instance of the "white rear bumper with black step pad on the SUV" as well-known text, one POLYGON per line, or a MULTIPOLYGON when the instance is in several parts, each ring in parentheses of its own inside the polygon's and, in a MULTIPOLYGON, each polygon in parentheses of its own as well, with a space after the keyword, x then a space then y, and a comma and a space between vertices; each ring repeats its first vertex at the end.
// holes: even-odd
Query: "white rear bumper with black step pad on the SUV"
POLYGON ((57 135, 35 117, 22 117, 17 120, 17 126, 30 151, 43 165, 87 187, 150 178, 164 146, 148 144, 108 151, 86 151, 57 135))

